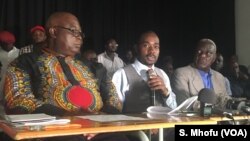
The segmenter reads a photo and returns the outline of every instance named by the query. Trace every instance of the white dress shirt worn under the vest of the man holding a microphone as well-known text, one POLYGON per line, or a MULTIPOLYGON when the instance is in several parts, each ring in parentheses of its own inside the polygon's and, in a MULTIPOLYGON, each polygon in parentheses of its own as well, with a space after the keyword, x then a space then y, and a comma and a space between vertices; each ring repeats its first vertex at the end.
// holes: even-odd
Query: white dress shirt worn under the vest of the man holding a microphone
MULTIPOLYGON (((132 66, 135 68, 136 72, 142 77, 142 79, 144 81, 148 81, 148 77, 147 77, 146 72, 149 68, 146 65, 140 63, 136 59, 135 62, 132 64, 132 66)), ((154 68, 155 68, 155 66, 153 65, 152 69, 154 70, 154 68)), ((167 74, 163 70, 160 70, 160 71, 161 71, 162 75, 164 76, 162 79, 163 79, 164 84, 165 84, 166 88, 168 89, 168 93, 169 93, 168 98, 165 99, 165 104, 168 105, 170 108, 174 109, 177 107, 176 96, 172 92, 172 89, 170 86, 170 81, 169 81, 167 74)), ((125 73, 123 68, 117 70, 114 73, 114 75, 112 77, 112 81, 116 87, 119 99, 122 102, 124 102, 126 91, 129 90, 129 83, 128 83, 127 76, 126 76, 126 73, 125 73)))

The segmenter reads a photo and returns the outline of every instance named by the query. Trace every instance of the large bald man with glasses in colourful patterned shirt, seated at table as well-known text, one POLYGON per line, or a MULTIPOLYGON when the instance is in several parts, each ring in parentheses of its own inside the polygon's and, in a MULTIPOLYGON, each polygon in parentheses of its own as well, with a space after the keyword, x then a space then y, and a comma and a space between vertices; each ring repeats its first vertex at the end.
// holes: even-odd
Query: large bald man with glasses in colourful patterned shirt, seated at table
MULTIPOLYGON (((46 47, 39 52, 19 56, 9 66, 4 91, 7 111, 55 116, 99 112, 103 107, 100 93, 115 95, 116 91, 111 80, 99 84, 99 78, 75 57, 80 52, 84 38, 77 17, 68 12, 53 13, 46 22, 46 33, 46 47)), ((73 135, 44 140, 128 141, 120 133, 73 135)))

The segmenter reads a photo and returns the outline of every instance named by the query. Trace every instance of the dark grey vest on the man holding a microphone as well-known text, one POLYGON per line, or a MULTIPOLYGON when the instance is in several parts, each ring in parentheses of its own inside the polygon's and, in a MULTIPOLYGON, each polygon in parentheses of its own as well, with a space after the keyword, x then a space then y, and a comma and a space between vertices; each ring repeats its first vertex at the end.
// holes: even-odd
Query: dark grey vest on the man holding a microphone
MULTIPOLYGON (((149 106, 152 106, 152 91, 141 76, 136 72, 132 65, 124 67, 126 73, 129 90, 125 93, 125 101, 123 104, 123 113, 142 113, 146 112, 149 106)), ((158 68, 155 68, 157 75, 162 77, 158 68)), ((156 93, 156 105, 164 105, 162 94, 156 93)))

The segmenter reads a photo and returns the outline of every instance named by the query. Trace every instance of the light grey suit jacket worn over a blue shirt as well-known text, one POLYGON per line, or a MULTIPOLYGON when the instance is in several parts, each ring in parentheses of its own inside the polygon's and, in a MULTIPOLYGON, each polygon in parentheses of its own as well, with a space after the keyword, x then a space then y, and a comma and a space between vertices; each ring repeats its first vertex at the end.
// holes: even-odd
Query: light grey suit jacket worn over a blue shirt
MULTIPOLYGON (((228 99, 231 99, 226 91, 224 76, 211 69, 211 80, 213 89, 216 94, 215 106, 224 108, 228 99)), ((172 89, 176 94, 177 104, 180 105, 189 97, 198 95, 199 91, 204 88, 202 77, 197 68, 193 65, 178 68, 172 77, 172 89)), ((199 109, 198 101, 194 104, 194 109, 199 109)))

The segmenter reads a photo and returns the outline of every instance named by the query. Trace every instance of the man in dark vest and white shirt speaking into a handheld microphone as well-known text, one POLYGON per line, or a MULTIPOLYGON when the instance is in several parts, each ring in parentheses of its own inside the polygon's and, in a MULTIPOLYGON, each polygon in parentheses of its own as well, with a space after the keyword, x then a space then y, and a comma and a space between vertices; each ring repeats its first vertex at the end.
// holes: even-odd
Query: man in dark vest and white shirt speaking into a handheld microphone
MULTIPOLYGON (((176 99, 169 78, 162 69, 154 65, 160 53, 160 40, 157 34, 153 31, 143 33, 135 51, 134 63, 117 70, 112 78, 119 100, 123 103, 122 112, 142 113, 150 106, 175 108, 176 99), (152 73, 148 73, 149 70, 152 73), (152 96, 155 98, 152 99, 152 96)), ((172 129, 165 130, 164 138, 174 140, 173 133, 172 129)))

